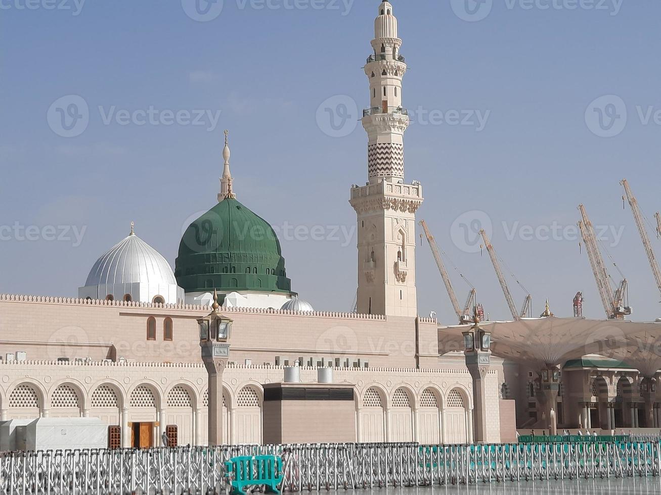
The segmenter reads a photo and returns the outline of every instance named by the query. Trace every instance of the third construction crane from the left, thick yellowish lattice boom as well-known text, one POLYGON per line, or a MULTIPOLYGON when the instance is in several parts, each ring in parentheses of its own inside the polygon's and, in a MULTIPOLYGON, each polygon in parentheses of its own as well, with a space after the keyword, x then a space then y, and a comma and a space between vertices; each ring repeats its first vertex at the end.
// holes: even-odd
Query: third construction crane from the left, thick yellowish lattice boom
POLYGON ((608 319, 624 319, 626 315, 631 314, 631 307, 627 304, 627 279, 623 279, 614 294, 611 295, 611 278, 603 263, 602 253, 594 236, 594 227, 585 207, 578 205, 578 209, 582 216, 582 220, 578 222, 578 228, 580 228, 586 251, 588 251, 590 266, 592 267, 592 273, 594 273, 594 280, 597 282, 603 309, 608 319))

